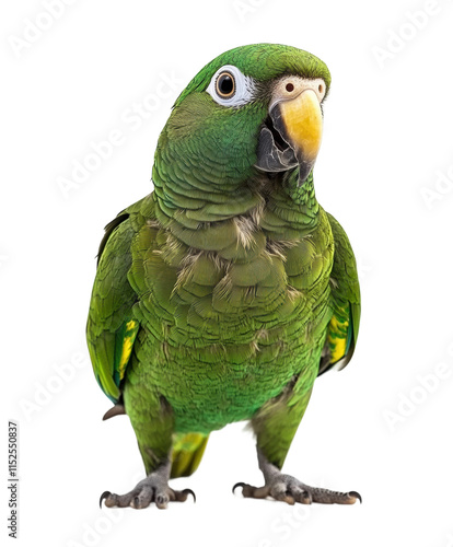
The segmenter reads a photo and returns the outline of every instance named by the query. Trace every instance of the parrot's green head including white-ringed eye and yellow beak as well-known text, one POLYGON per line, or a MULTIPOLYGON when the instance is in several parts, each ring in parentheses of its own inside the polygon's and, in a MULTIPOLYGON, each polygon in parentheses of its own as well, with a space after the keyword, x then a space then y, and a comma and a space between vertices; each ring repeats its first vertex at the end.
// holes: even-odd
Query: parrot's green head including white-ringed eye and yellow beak
MULTIPOLYGON (((231 49, 178 96, 156 154, 167 163, 184 159, 211 188, 231 190, 257 173, 294 171, 301 186, 320 150, 329 84, 326 65, 301 49, 274 44, 231 49)), ((186 183, 190 176, 185 173, 186 183)))

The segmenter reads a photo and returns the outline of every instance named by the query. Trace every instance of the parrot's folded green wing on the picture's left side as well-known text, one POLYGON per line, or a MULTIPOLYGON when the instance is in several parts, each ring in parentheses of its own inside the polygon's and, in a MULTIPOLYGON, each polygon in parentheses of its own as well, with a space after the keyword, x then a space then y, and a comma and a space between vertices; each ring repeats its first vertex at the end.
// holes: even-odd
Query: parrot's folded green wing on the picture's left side
POLYGON ((120 383, 140 327, 132 316, 137 294, 127 279, 132 263, 130 246, 135 230, 129 213, 133 207, 121 211, 105 226, 86 324, 94 374, 115 404, 120 399, 120 383))

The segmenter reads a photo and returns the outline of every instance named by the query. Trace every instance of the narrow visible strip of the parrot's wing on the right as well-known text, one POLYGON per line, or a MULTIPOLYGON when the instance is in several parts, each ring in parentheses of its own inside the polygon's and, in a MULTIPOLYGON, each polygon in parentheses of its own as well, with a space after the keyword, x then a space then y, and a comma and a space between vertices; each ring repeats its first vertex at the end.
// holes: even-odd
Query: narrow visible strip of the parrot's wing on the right
POLYGON ((327 339, 318 375, 334 365, 344 369, 352 358, 360 324, 360 287, 356 257, 345 230, 327 213, 335 242, 330 274, 334 314, 327 327, 327 339))

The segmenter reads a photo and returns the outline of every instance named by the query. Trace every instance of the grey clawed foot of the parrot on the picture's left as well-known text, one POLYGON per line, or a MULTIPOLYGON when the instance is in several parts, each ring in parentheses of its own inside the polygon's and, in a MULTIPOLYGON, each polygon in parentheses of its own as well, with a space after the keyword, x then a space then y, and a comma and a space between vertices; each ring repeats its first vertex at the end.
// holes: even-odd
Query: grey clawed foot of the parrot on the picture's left
POLYGON ((169 487, 170 470, 171 462, 169 461, 140 480, 130 492, 123 496, 104 492, 101 496, 100 505, 105 500, 107 508, 144 509, 153 501, 159 509, 166 509, 169 501, 186 501, 189 494, 195 500, 195 493, 188 488, 179 491, 169 487))

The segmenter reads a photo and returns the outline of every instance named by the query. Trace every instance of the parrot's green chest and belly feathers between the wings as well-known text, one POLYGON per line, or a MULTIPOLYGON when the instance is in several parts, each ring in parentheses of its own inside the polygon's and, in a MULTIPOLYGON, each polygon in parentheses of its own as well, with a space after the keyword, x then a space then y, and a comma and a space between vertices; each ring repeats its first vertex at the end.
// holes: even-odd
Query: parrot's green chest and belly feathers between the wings
POLYGON ((324 211, 315 230, 292 240, 274 240, 246 218, 224 224, 219 251, 209 248, 208 235, 220 241, 212 230, 194 248, 190 234, 186 243, 155 222, 132 246, 129 279, 146 325, 133 369, 159 383, 183 430, 200 411, 207 428, 249 418, 303 370, 314 381, 330 318, 324 211))

